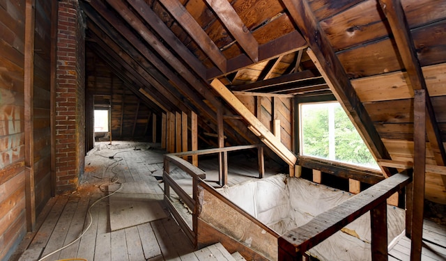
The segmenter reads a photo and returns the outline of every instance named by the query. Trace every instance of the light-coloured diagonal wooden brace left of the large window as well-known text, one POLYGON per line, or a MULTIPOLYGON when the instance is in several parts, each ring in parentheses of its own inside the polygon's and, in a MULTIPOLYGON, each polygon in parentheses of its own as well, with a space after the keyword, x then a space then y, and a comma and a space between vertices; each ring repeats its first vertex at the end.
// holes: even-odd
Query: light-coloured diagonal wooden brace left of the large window
POLYGON ((231 91, 228 90, 224 84, 222 84, 219 79, 214 79, 210 86, 212 86, 214 90, 217 91, 217 93, 233 107, 233 109, 240 113, 240 116, 245 118, 250 125, 249 129, 254 130, 254 134, 256 134, 256 136, 261 136, 261 140, 268 146, 268 148, 274 151, 290 166, 295 165, 297 157, 295 157, 293 152, 286 148, 285 145, 279 139, 277 139, 277 137, 274 136, 274 134, 272 134, 263 125, 263 123, 257 119, 256 116, 254 116, 254 114, 252 114, 251 111, 249 111, 249 109, 247 109, 245 105, 240 102, 240 100, 238 100, 236 95, 233 95, 233 93, 231 93, 231 91))

